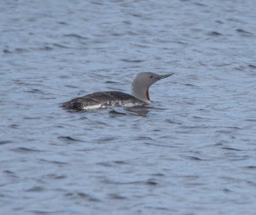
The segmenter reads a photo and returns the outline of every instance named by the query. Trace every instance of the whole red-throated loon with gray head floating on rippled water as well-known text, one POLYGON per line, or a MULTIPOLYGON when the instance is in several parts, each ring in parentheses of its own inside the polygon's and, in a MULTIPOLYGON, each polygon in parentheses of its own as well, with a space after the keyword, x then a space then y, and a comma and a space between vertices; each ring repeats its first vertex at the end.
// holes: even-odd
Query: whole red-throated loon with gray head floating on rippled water
POLYGON ((172 76, 174 73, 160 76, 155 73, 139 73, 132 82, 132 95, 119 91, 94 92, 62 104, 69 110, 94 110, 114 106, 142 106, 150 104, 148 88, 160 79, 172 76))

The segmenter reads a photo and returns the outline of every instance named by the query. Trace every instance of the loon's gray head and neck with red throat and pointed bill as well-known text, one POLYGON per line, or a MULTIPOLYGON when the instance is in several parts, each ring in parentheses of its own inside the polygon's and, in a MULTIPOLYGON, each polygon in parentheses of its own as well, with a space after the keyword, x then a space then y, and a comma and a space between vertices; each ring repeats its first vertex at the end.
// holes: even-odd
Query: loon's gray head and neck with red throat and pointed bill
POLYGON ((150 103, 150 94, 148 93, 148 88, 150 88, 150 86, 158 80, 167 78, 173 74, 174 73, 160 76, 155 73, 139 73, 133 80, 132 94, 134 97, 146 103, 150 103))

